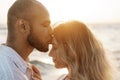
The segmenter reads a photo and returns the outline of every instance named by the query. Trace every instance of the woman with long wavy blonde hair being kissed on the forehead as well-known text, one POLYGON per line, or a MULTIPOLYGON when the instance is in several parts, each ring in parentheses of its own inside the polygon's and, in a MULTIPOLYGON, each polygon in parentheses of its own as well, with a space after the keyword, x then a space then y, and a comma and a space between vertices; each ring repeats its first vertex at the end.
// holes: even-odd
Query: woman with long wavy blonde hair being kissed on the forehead
POLYGON ((56 25, 52 45, 49 56, 55 67, 68 69, 63 80, 112 80, 105 51, 84 23, 56 25))

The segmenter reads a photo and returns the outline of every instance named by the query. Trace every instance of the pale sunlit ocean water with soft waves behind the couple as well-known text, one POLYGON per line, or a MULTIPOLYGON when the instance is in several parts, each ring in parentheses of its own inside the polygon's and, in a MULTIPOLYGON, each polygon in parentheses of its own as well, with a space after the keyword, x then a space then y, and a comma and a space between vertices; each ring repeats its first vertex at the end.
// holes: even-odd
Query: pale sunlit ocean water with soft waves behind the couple
MULTIPOLYGON (((117 68, 120 71, 120 24, 87 24, 94 35, 101 41, 106 51, 113 54, 117 60, 117 68)), ((0 44, 7 38, 6 25, 0 25, 0 44)), ((51 48, 51 46, 50 46, 51 48)), ((41 71, 43 80, 57 80, 66 69, 56 69, 48 53, 34 50, 29 56, 31 63, 37 65, 41 71)), ((120 78, 120 77, 119 77, 120 78)), ((119 78, 116 80, 119 80, 119 78)))

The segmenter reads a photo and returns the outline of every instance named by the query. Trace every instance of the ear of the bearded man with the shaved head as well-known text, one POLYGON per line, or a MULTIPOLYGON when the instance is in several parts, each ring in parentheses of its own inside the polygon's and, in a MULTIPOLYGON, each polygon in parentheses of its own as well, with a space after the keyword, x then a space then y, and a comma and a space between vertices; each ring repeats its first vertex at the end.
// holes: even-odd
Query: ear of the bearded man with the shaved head
POLYGON ((17 21, 18 29, 22 33, 28 33, 30 31, 29 22, 24 19, 19 19, 17 21))

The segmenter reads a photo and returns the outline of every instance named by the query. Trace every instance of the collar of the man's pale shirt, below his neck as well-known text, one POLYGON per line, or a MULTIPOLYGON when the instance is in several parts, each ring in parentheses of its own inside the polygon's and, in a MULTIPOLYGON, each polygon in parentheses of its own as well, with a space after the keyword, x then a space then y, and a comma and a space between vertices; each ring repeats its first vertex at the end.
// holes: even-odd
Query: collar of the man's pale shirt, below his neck
POLYGON ((6 51, 5 55, 11 58, 14 64, 25 73, 27 70, 27 63, 22 59, 22 57, 11 47, 2 45, 3 49, 6 51))

